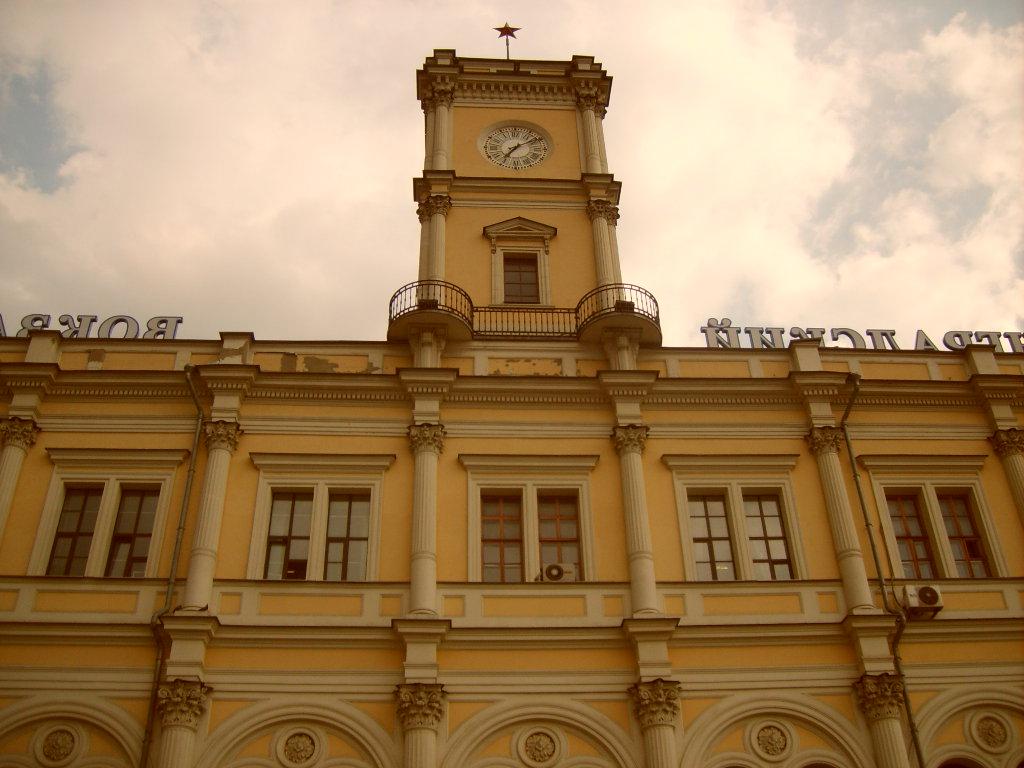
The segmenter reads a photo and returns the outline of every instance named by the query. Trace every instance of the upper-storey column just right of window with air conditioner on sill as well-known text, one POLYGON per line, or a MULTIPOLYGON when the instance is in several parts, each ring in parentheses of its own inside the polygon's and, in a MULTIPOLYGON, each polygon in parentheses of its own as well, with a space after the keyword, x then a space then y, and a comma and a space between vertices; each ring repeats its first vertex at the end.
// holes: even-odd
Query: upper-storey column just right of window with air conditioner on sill
POLYGON ((647 441, 647 427, 629 424, 611 433, 618 452, 626 515, 626 553, 630 562, 630 596, 633 615, 659 614, 654 580, 654 554, 647 519, 647 493, 640 455, 647 441))

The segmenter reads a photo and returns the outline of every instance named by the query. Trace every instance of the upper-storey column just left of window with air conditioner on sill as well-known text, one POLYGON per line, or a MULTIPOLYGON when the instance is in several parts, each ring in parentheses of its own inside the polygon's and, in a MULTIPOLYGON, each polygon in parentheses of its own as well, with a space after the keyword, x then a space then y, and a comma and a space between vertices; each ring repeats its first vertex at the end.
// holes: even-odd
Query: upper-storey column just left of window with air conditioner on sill
POLYGON ((415 456, 409 612, 437 615, 437 458, 444 449, 441 424, 414 424, 415 456))

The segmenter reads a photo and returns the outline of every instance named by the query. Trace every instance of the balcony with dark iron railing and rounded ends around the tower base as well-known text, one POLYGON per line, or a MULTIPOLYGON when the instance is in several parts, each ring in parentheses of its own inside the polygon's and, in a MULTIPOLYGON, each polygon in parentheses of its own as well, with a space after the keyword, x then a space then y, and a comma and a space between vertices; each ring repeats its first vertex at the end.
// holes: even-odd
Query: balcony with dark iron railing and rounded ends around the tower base
POLYGON ((594 341, 609 329, 633 329, 642 344, 662 343, 657 301, 639 286, 594 289, 575 308, 523 304, 476 307, 453 283, 423 280, 402 286, 388 308, 388 339, 408 338, 414 326, 443 326, 450 339, 579 339, 594 341))

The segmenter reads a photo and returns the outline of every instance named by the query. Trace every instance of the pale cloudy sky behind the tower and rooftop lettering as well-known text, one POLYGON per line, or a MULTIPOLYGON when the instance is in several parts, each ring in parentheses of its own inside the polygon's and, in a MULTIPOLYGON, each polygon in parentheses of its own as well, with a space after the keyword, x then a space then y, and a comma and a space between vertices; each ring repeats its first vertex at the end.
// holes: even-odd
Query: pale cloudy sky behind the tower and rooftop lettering
POLYGON ((623 276, 665 341, 1024 330, 1024 3, 0 0, 0 315, 383 339, 434 48, 614 78, 623 276))

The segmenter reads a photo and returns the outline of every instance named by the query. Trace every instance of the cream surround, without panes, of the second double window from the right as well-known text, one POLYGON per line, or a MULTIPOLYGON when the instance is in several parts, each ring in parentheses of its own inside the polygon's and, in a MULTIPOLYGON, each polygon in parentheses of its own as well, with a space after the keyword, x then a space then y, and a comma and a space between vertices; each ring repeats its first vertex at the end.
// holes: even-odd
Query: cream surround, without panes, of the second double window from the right
MULTIPOLYGON (((686 581, 697 579, 693 558, 693 535, 690 529, 691 496, 722 496, 729 521, 729 542, 737 582, 785 583, 807 579, 800 519, 794 501, 791 473, 797 466, 797 454, 682 456, 666 454, 662 461, 672 470, 676 488, 676 511, 679 518, 680 546, 683 551, 683 573, 686 581), (790 579, 759 580, 754 577, 750 539, 746 536, 743 497, 771 494, 778 498, 779 513, 785 526, 785 543, 790 555, 790 579)), ((728 582, 722 582, 728 584, 728 582)))

